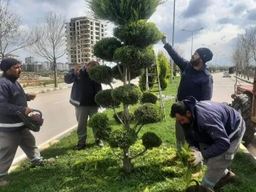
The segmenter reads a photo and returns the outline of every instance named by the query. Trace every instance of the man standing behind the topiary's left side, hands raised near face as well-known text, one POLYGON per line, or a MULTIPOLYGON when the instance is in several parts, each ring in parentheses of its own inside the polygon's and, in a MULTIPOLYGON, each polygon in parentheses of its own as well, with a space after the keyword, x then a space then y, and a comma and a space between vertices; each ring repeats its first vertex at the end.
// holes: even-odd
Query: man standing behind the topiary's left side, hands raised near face
MULTIPOLYGON (((78 120, 78 145, 75 150, 85 149, 87 139, 87 120, 97 113, 99 106, 95 102, 95 95, 102 90, 102 85, 90 79, 89 70, 97 65, 97 61, 90 61, 86 67, 81 64, 76 65, 65 75, 65 82, 72 83, 73 87, 70 95, 70 103, 75 106, 75 116, 78 120)), ((92 129, 95 142, 99 146, 104 146, 100 139, 97 139, 96 130, 92 129)))

